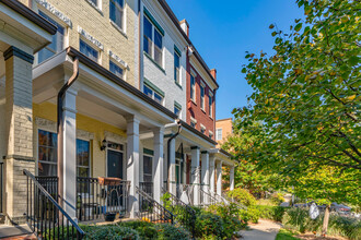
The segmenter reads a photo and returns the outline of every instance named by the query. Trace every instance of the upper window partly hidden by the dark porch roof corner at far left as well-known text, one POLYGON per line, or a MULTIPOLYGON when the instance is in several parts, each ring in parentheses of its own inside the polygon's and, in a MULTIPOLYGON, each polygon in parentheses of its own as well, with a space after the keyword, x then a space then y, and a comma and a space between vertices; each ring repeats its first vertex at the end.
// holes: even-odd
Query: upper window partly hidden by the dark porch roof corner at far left
POLYGON ((47 16, 44 12, 39 11, 39 15, 58 27, 57 33, 53 35, 51 44, 43 48, 37 55, 38 63, 42 63, 46 59, 53 57, 54 55, 62 50, 65 28, 61 25, 59 25, 57 22, 55 22, 53 19, 47 16))

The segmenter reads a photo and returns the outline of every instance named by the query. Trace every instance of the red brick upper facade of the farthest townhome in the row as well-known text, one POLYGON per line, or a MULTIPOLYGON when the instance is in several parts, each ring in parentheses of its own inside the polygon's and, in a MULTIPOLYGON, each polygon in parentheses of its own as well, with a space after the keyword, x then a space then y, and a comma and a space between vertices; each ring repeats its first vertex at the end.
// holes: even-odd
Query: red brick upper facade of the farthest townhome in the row
MULTIPOLYGON (((188 56, 188 55, 187 55, 188 56)), ((198 71, 190 64, 189 57, 187 57, 187 123, 191 124, 191 118, 197 120, 196 129, 201 132, 201 124, 206 127, 205 134, 210 136, 210 132, 213 133, 211 136, 214 140, 216 134, 216 91, 207 84, 206 80, 202 80, 198 71), (190 98, 190 74, 196 73, 196 99, 190 98), (205 84, 205 110, 200 108, 200 83, 205 84), (209 112, 209 93, 213 95, 212 115, 209 112)))

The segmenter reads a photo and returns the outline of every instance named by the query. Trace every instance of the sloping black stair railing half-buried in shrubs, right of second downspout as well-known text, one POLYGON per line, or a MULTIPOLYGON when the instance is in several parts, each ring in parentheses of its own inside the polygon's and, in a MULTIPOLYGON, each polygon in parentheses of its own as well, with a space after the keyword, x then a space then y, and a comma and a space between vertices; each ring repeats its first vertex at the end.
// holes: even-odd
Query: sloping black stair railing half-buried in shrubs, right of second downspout
POLYGON ((195 237, 195 225, 196 225, 196 211, 189 205, 179 200, 176 195, 167 192, 164 188, 162 189, 165 207, 170 207, 170 211, 174 214, 175 219, 186 229, 188 229, 193 237, 195 237), (167 206, 171 204, 171 206, 167 206))

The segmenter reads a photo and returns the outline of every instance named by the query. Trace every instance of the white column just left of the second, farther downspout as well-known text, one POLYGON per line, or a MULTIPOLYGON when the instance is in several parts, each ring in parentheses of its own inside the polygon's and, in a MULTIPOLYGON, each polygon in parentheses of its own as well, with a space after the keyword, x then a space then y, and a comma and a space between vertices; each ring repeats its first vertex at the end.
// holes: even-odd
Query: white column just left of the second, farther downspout
POLYGON ((156 128, 154 132, 154 160, 153 160, 153 189, 154 200, 161 203, 162 187, 163 187, 163 140, 164 129, 156 128))

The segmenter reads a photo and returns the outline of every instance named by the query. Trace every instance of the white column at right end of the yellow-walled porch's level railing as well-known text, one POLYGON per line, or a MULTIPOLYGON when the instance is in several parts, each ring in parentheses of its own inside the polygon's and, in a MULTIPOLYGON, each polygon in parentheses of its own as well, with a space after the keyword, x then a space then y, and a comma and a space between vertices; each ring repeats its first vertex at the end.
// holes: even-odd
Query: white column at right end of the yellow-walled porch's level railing
POLYGON ((130 218, 135 218, 139 212, 139 119, 135 116, 127 118, 127 180, 130 181, 129 208, 130 218))

